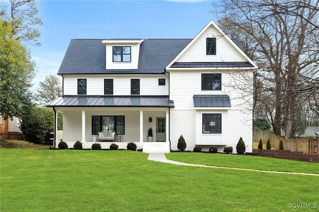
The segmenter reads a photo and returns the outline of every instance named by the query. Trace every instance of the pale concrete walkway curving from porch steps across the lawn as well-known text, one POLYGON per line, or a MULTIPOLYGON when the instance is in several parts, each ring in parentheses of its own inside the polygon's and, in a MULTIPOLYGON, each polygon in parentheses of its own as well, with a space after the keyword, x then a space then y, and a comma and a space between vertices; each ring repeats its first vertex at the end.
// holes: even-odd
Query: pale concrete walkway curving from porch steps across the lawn
POLYGON ((178 161, 167 160, 164 153, 150 153, 149 157, 148 157, 148 160, 158 161, 158 162, 162 162, 162 163, 170 163, 170 164, 181 165, 181 166, 196 166, 196 167, 217 168, 217 169, 232 169, 232 170, 245 170, 245 171, 266 172, 266 173, 319 176, 319 174, 309 174, 309 173, 276 172, 276 171, 264 171, 264 170, 256 170, 256 169, 242 169, 242 168, 230 168, 230 167, 206 166, 206 165, 182 163, 182 162, 178 162, 178 161))

